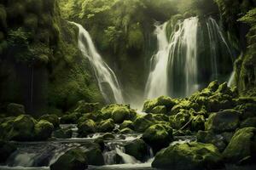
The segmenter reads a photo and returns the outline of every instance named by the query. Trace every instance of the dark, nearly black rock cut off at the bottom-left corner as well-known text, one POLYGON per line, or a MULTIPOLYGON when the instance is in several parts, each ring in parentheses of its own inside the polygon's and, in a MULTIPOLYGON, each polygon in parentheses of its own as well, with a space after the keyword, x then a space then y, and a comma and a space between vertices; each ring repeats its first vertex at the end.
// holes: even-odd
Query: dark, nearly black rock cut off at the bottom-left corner
POLYGON ((0 140, 0 163, 5 163, 9 156, 16 150, 14 144, 0 140))

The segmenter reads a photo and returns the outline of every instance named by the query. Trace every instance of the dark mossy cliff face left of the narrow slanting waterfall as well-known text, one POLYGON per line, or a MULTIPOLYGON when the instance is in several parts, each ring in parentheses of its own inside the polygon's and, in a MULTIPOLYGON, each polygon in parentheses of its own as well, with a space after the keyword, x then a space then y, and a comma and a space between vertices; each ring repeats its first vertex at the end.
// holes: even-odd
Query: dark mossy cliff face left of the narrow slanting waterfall
POLYGON ((0 1, 0 103, 40 115, 61 113, 80 99, 102 101, 88 61, 77 48, 77 28, 55 0, 0 1))

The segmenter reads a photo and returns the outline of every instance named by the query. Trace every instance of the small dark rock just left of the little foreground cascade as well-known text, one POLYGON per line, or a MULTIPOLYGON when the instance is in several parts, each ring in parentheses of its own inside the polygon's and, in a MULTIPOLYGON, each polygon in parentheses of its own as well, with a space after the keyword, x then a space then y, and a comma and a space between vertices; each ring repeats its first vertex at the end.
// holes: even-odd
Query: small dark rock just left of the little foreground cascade
POLYGON ((92 147, 89 150, 85 150, 84 154, 88 159, 89 165, 102 166, 105 164, 102 150, 98 147, 92 147))

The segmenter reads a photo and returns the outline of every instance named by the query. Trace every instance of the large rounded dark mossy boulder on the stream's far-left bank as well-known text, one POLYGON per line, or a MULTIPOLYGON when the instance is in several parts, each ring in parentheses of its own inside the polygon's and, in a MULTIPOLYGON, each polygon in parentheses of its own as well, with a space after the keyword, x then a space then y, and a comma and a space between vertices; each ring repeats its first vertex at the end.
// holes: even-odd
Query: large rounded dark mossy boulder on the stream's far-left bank
POLYGON ((28 141, 34 138, 36 121, 29 115, 20 115, 15 118, 9 132, 10 140, 28 141))

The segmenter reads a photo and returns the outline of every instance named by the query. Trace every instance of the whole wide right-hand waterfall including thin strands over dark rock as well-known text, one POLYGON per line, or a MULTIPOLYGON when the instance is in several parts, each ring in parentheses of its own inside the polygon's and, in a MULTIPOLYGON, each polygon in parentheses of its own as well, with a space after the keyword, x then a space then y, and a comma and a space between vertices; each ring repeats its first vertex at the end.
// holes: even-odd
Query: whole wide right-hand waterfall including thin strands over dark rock
MULTIPOLYGON (((146 99, 154 99, 160 95, 187 97, 203 84, 219 80, 219 74, 224 72, 220 66, 223 61, 219 58, 225 59, 225 62, 230 60, 232 65, 228 42, 212 17, 207 20, 191 17, 177 20, 175 25, 169 26, 170 24, 172 25, 169 21, 155 29, 158 52, 150 60, 146 99), (202 25, 205 23, 207 29, 204 32, 202 25), (172 33, 168 37, 170 30, 172 33), (207 59, 208 56, 210 59, 207 59), (201 68, 205 70, 201 71, 201 68)), ((227 70, 225 69, 225 74, 227 70)))

